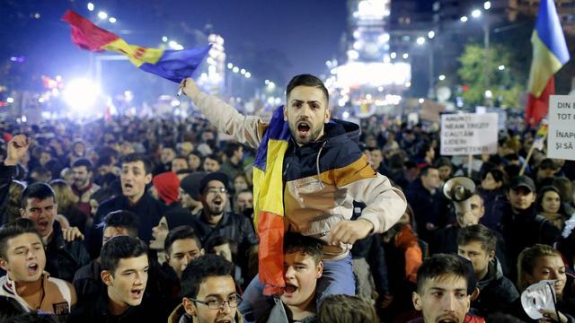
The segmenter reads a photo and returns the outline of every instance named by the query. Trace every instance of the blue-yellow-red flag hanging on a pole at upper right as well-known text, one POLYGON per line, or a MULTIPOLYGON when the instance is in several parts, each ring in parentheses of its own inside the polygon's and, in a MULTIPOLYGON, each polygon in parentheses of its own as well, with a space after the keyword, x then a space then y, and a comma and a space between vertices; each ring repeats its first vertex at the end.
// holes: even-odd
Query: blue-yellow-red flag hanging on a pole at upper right
POLYGON ((535 126, 549 111, 549 95, 555 93, 553 74, 570 57, 553 0, 541 0, 531 36, 533 60, 529 72, 529 98, 525 111, 526 123, 535 126))

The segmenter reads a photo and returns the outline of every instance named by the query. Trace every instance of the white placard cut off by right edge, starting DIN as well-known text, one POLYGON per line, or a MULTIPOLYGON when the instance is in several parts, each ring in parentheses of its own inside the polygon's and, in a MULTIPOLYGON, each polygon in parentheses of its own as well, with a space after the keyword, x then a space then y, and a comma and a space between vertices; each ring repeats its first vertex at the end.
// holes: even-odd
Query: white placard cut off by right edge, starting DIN
POLYGON ((575 95, 549 97, 547 157, 575 160, 575 95))

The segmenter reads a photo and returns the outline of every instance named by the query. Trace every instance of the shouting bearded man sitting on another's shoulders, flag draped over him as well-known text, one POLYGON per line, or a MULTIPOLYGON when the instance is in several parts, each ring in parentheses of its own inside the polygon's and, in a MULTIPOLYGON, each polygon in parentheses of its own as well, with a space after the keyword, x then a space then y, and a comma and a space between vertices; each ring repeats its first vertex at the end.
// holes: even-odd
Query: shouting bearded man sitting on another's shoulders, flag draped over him
POLYGON ((243 116, 200 92, 190 78, 182 81, 181 89, 219 131, 257 150, 253 197, 261 239, 260 274, 243 294, 244 319, 255 321, 261 314, 255 310, 269 310, 261 306, 269 303, 262 301, 261 284, 266 295, 279 294, 286 286, 281 275, 284 231, 327 242, 318 284, 323 297, 354 294, 349 249, 356 240, 391 228, 406 203, 359 150, 358 125, 331 119, 323 82, 314 75, 296 75, 288 83, 286 106, 274 111, 270 123, 243 116), (354 200, 367 207, 351 221, 354 200))

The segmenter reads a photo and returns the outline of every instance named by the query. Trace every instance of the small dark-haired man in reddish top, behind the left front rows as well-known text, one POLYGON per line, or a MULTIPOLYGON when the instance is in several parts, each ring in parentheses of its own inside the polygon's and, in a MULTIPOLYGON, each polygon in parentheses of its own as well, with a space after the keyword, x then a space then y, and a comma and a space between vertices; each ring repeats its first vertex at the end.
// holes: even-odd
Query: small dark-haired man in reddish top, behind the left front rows
POLYGON ((90 216, 90 196, 100 189, 100 186, 93 182, 93 164, 87 158, 79 158, 72 163, 72 173, 72 191, 78 196, 76 205, 86 216, 90 216))

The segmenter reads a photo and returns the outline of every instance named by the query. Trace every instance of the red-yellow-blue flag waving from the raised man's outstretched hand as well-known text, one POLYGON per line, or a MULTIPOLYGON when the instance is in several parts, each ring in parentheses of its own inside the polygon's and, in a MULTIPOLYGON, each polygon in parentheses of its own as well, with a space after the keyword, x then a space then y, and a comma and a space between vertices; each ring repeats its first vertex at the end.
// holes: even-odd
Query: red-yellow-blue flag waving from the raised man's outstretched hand
POLYGON ((128 57, 140 69, 164 77, 175 83, 190 77, 208 55, 210 45, 201 48, 164 50, 129 45, 124 39, 103 30, 72 10, 66 11, 62 21, 72 28, 72 42, 80 48, 101 52, 110 50, 128 57))

